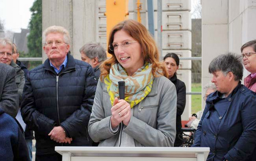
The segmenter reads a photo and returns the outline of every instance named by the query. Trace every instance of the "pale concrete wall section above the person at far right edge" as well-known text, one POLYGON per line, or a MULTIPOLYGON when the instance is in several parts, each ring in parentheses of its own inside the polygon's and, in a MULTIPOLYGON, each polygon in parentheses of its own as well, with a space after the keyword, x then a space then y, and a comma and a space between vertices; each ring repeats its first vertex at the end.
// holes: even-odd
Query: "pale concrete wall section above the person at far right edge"
MULTIPOLYGON (((256 3, 252 0, 229 0, 229 51, 240 54, 241 46, 256 39, 256 3)), ((249 72, 244 68, 243 76, 249 72)), ((243 83, 243 81, 242 81, 243 83)))

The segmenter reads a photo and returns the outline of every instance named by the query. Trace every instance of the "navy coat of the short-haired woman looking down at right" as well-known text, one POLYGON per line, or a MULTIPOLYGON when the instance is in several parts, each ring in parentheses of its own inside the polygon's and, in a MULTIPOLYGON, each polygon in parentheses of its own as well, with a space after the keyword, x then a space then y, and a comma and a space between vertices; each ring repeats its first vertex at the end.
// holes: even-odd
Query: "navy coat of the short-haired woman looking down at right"
POLYGON ((193 147, 209 147, 207 161, 252 161, 248 156, 255 154, 256 94, 239 82, 228 97, 220 96, 217 91, 208 96, 193 147), (222 114, 216 109, 221 100, 222 114))

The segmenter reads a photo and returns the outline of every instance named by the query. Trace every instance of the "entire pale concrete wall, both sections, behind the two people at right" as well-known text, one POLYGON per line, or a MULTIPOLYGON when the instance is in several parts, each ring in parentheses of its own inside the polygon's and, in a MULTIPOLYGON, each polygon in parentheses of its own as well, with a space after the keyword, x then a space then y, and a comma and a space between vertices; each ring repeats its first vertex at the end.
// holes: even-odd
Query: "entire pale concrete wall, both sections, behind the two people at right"
MULTIPOLYGON (((255 17, 256 0, 202 0, 202 87, 211 80, 208 67, 213 58, 241 54, 240 47, 256 39, 255 17)), ((248 74, 244 69, 244 76, 248 74)))

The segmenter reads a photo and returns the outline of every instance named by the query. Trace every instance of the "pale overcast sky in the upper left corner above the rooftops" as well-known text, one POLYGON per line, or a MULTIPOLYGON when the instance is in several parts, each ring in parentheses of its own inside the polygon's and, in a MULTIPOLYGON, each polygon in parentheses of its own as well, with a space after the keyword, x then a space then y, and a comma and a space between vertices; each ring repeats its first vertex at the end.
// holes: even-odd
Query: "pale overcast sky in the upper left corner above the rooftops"
POLYGON ((5 31, 20 33, 20 28, 27 28, 34 0, 0 0, 0 20, 5 31))

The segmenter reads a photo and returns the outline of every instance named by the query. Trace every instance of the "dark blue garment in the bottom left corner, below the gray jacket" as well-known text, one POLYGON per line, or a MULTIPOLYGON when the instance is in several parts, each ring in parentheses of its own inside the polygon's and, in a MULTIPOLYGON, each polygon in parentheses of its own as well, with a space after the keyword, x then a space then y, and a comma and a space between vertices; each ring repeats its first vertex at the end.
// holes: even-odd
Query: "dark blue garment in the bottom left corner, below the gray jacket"
POLYGON ((29 161, 27 144, 16 121, 0 108, 0 160, 29 161))

